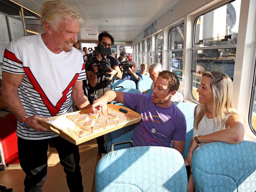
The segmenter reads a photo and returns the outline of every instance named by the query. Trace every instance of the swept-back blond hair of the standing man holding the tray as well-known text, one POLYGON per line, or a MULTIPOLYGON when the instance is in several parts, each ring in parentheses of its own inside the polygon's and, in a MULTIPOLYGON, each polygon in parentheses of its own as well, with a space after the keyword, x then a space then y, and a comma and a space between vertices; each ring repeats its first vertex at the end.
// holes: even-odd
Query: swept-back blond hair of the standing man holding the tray
POLYGON ((41 28, 46 32, 45 22, 49 22, 53 30, 56 31, 62 19, 69 19, 73 22, 82 23, 82 19, 77 7, 60 0, 47 1, 41 7, 41 28))

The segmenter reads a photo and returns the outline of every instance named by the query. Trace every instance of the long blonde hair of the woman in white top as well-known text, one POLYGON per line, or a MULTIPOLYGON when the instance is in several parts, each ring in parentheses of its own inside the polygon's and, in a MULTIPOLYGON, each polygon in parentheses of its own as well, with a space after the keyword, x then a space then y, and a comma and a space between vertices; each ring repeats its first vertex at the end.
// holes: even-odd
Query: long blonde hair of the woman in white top
MULTIPOLYGON (((213 91, 213 118, 217 119, 214 122, 215 131, 220 130, 225 125, 225 116, 229 113, 237 114, 233 106, 233 85, 232 80, 228 75, 219 71, 209 71, 203 74, 212 79, 211 89, 213 91)), ((196 114, 194 127, 198 129, 198 124, 206 114, 206 105, 200 104, 200 111, 196 114)))

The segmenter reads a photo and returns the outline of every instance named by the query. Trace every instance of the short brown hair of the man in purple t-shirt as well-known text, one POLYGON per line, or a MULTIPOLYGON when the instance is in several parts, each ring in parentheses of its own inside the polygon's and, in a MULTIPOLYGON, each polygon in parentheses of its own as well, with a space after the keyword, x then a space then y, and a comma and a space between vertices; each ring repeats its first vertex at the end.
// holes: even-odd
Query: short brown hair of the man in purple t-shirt
POLYGON ((159 76, 161 76, 169 82, 169 92, 174 90, 177 91, 179 89, 179 78, 175 73, 170 71, 161 71, 158 77, 159 76))

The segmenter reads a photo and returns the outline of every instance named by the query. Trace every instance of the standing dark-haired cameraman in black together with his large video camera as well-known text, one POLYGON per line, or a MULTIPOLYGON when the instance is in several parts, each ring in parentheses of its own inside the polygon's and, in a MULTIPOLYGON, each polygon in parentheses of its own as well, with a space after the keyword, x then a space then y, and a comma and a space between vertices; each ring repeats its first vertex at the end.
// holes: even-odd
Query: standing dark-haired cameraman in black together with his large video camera
MULTIPOLYGON (((122 76, 118 67, 118 62, 115 58, 110 56, 110 47, 114 45, 114 38, 108 32, 104 31, 99 34, 98 39, 98 46, 95 47, 93 53, 90 53, 86 62, 86 75, 88 79, 87 90, 90 103, 93 103, 96 98, 99 99, 105 92, 110 90, 110 85, 113 83, 114 76, 118 79, 122 76), (94 54, 96 52, 97 54, 94 54), (102 66, 100 67, 100 65, 102 64, 105 66, 107 64, 107 67, 105 67, 105 69, 107 69, 106 72, 101 69, 102 66)), ((99 153, 106 153, 104 137, 97 137, 96 140, 99 153)))

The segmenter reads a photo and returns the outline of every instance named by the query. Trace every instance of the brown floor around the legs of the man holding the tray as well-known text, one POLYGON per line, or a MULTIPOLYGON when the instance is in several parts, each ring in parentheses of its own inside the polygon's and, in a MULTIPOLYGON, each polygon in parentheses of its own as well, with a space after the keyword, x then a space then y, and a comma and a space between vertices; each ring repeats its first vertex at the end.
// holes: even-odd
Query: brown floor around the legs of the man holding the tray
MULTIPOLYGON (((95 191, 95 168, 101 158, 98 153, 96 139, 79 145, 80 166, 84 192, 95 191)), ((12 188, 13 192, 24 191, 25 174, 19 164, 9 165, 7 170, 0 171, 0 184, 12 188)), ((1 191, 1 189, 0 189, 1 191)), ((69 192, 66 175, 60 164, 58 153, 54 147, 48 149, 47 179, 43 186, 44 192, 69 192)))

